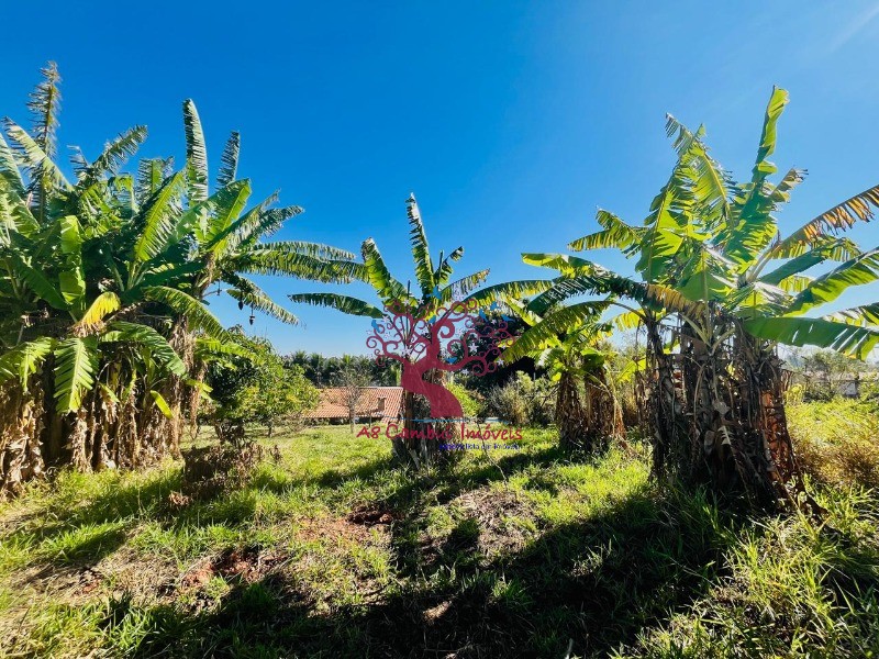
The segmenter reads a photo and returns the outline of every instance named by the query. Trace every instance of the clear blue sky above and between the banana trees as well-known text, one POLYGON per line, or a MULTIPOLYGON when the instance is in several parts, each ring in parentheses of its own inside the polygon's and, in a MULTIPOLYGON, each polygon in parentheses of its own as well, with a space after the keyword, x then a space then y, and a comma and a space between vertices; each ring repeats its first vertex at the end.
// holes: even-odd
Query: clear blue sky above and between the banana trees
MULTIPOLYGON (((305 208, 279 237, 357 252, 372 236, 403 280, 410 191, 432 250, 466 247, 461 275, 533 277, 520 253, 563 250, 594 230, 597 206, 643 220, 672 161, 666 112, 704 123, 715 157, 744 176, 774 83, 791 94, 774 160, 810 171, 786 228, 879 181, 876 0, 48 1, 3 19, 0 114, 26 121, 38 68, 55 59, 60 144, 94 156, 142 123, 142 155, 180 158, 191 97, 212 166, 240 130, 255 198, 280 188, 305 208)), ((876 246, 876 226, 853 237, 876 246)), ((265 284, 285 301, 322 288, 265 284)), ((215 300, 221 320, 246 324, 215 300)), ((304 327, 260 317, 254 331, 282 351, 365 351, 365 321, 296 311, 304 327)))

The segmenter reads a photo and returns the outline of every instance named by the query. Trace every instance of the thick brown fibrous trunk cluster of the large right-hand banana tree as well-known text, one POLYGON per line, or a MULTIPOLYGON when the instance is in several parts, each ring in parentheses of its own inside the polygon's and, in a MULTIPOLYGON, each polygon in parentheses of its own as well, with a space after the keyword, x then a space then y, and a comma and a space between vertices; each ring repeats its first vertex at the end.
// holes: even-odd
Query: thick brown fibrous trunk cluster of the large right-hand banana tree
POLYGON ((797 503, 803 490, 775 349, 721 314, 681 324, 675 354, 658 326, 647 334, 655 473, 759 506, 797 503))

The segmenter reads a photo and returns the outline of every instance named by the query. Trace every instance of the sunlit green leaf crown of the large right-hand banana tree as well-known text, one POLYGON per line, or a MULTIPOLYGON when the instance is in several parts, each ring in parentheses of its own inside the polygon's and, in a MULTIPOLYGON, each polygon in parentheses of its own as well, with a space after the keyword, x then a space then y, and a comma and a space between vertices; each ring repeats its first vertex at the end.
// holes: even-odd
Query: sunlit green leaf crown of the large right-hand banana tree
MULTIPOLYGON (((768 180, 777 171, 767 158, 775 152, 776 124, 787 100, 786 91, 774 90, 752 178, 744 183, 734 182, 710 156, 701 127, 693 133, 669 116, 667 131, 675 136, 678 159, 643 226, 599 211, 603 230, 569 247, 616 247, 637 256, 636 271, 644 282, 668 287, 691 301, 714 303, 748 321, 755 334, 766 339, 777 337, 758 319, 794 319, 836 299, 850 286, 875 281, 879 278, 876 253, 861 254, 852 241, 835 234, 872 217, 879 186, 781 236, 775 213, 804 177, 791 169, 776 185, 768 180), (814 266, 834 260, 842 263, 831 272, 814 279, 805 275, 814 266)), ((547 256, 532 255, 532 260, 547 263, 547 256)), ((581 265, 589 268, 589 264, 581 265)), ((809 331, 806 319, 791 320, 788 326, 801 330, 795 333, 797 345, 822 347, 833 346, 836 334, 844 331, 839 325, 809 331)), ((877 340, 879 337, 864 332, 836 347, 863 357, 877 340)))

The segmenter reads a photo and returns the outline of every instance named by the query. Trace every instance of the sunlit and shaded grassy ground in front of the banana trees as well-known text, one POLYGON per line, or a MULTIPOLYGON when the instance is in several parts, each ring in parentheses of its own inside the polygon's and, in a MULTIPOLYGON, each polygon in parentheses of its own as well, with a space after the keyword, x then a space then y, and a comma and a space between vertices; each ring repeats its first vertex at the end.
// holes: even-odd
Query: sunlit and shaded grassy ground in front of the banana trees
MULTIPOLYGON (((794 431, 814 412, 792 410, 794 431)), ((872 410, 843 418, 876 426, 872 410)), ((580 461, 530 431, 521 450, 410 477, 344 426, 276 442, 245 488, 204 501, 175 494, 168 463, 65 472, 2 504, 0 654, 879 652, 879 501, 852 474, 815 483, 814 526, 661 491, 639 443, 580 461)))

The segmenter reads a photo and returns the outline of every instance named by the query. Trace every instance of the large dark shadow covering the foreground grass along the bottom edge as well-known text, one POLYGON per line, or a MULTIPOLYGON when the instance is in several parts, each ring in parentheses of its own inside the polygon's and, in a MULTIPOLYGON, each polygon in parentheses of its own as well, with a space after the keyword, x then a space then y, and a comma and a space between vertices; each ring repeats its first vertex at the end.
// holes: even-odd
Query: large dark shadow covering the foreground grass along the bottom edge
MULTIPOLYGON (((175 657, 604 656, 703 596, 733 534, 704 496, 632 494, 488 567, 464 521, 433 576, 360 605, 319 605, 296 565, 238 583, 210 612, 158 607, 133 655, 175 657)), ((129 614, 114 614, 122 625, 129 614)))

